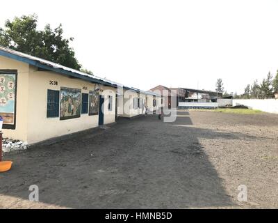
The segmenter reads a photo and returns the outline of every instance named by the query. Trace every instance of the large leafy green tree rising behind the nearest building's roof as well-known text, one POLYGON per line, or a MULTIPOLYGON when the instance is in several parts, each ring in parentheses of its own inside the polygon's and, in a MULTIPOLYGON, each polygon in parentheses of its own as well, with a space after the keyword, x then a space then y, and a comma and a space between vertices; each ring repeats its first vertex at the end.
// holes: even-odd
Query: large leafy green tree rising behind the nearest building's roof
POLYGON ((56 29, 47 24, 43 30, 38 30, 37 25, 37 15, 7 20, 4 29, 0 28, 0 45, 80 70, 81 65, 70 47, 74 38, 63 38, 62 24, 56 29))

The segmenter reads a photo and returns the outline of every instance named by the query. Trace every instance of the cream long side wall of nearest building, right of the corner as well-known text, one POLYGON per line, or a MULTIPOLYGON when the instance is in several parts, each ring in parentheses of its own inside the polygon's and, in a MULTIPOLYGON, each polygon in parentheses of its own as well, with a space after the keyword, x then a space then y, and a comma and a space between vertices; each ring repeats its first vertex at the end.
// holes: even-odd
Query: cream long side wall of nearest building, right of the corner
MULTIPOLYGON (((81 114, 80 118, 60 120, 47 118, 47 89, 58 90, 60 87, 81 89, 81 93, 89 93, 95 89, 95 84, 81 79, 72 79, 55 72, 30 72, 29 100, 28 100, 28 144, 44 139, 59 137, 81 130, 95 128, 99 123, 99 115, 89 116, 81 114), (49 81, 56 81, 58 85, 50 85, 49 81), (87 88, 84 90, 83 88, 87 88)), ((115 122, 115 89, 104 86, 104 124, 115 122), (109 90, 109 91, 106 91, 109 90), (113 95, 113 111, 108 111, 108 94, 113 95)))

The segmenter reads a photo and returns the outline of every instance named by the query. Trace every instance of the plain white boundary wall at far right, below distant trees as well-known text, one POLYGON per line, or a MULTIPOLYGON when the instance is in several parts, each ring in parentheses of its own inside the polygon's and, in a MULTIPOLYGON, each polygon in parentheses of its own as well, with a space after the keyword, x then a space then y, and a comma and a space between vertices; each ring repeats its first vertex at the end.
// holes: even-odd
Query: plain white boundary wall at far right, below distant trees
POLYGON ((250 109, 278 114, 277 99, 234 99, 233 106, 236 105, 245 105, 250 109))

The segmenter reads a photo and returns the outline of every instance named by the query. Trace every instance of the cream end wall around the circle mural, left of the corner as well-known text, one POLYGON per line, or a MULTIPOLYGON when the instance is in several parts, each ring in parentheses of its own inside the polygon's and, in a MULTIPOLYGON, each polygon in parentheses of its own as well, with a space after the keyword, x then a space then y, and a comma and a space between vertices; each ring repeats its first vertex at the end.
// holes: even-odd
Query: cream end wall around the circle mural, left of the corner
POLYGON ((3 137, 27 140, 29 66, 27 63, 0 56, 0 69, 17 70, 16 129, 3 129, 3 137))

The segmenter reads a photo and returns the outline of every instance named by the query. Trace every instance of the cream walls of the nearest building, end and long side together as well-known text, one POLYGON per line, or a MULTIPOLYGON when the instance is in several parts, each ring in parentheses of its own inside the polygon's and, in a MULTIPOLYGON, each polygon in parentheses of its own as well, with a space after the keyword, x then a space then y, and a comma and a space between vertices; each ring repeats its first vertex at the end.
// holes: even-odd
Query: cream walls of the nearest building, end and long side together
MULTIPOLYGON (((3 130, 3 137, 19 139, 33 144, 38 141, 59 137, 64 134, 95 128, 99 123, 99 115, 81 114, 80 118, 60 120, 47 118, 47 89, 58 90, 60 87, 81 89, 89 93, 95 84, 81 79, 73 79, 56 72, 38 71, 27 63, 0 56, 0 69, 14 69, 17 76, 17 114, 15 130, 3 130), (51 85, 56 81, 58 85, 51 85), (84 90, 86 87, 87 90, 84 90)), ((103 86, 104 91, 104 124, 115 122, 115 89, 103 86), (113 109, 108 111, 108 95, 113 96, 113 109)))

